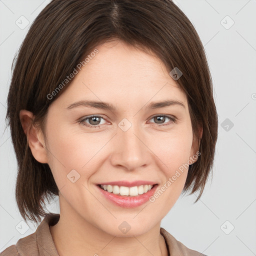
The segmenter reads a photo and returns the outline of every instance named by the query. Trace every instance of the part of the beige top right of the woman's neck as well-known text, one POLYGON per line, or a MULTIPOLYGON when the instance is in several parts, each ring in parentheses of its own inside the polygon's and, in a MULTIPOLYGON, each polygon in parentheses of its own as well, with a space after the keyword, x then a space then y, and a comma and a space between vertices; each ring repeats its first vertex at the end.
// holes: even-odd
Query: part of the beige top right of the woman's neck
POLYGON ((167 232, 163 227, 160 227, 160 234, 164 237, 170 255, 207 256, 201 252, 186 247, 183 243, 176 240, 175 237, 167 232))

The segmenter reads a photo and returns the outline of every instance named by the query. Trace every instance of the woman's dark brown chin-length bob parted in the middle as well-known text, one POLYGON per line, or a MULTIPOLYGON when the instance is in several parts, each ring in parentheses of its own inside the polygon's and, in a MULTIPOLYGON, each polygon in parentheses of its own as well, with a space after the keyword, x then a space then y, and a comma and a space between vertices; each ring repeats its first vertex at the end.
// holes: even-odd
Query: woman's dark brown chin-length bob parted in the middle
POLYGON ((31 24, 13 59, 7 97, 5 119, 18 165, 15 199, 24 219, 40 220, 46 214, 44 199, 58 195, 58 188, 48 164, 33 157, 19 111, 31 111, 33 124, 45 135, 48 107, 72 79, 64 86, 60 83, 78 63, 84 65, 97 45, 113 39, 153 52, 169 71, 181 70, 176 82, 186 94, 201 152, 189 165, 182 193, 199 190, 195 202, 202 194, 213 165, 218 120, 204 48, 186 15, 171 0, 52 0, 31 24), (61 89, 54 93, 57 87, 61 89))

